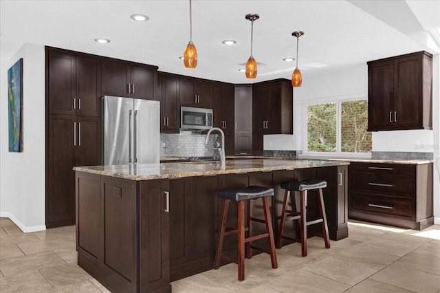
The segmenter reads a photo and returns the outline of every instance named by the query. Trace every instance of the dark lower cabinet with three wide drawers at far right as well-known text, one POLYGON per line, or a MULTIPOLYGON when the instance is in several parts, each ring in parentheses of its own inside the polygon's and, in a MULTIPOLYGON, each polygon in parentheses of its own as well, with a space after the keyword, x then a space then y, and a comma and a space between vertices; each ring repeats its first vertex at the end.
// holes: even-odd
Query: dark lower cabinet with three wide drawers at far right
POLYGON ((434 223, 432 163, 349 165, 349 217, 422 230, 434 223))

